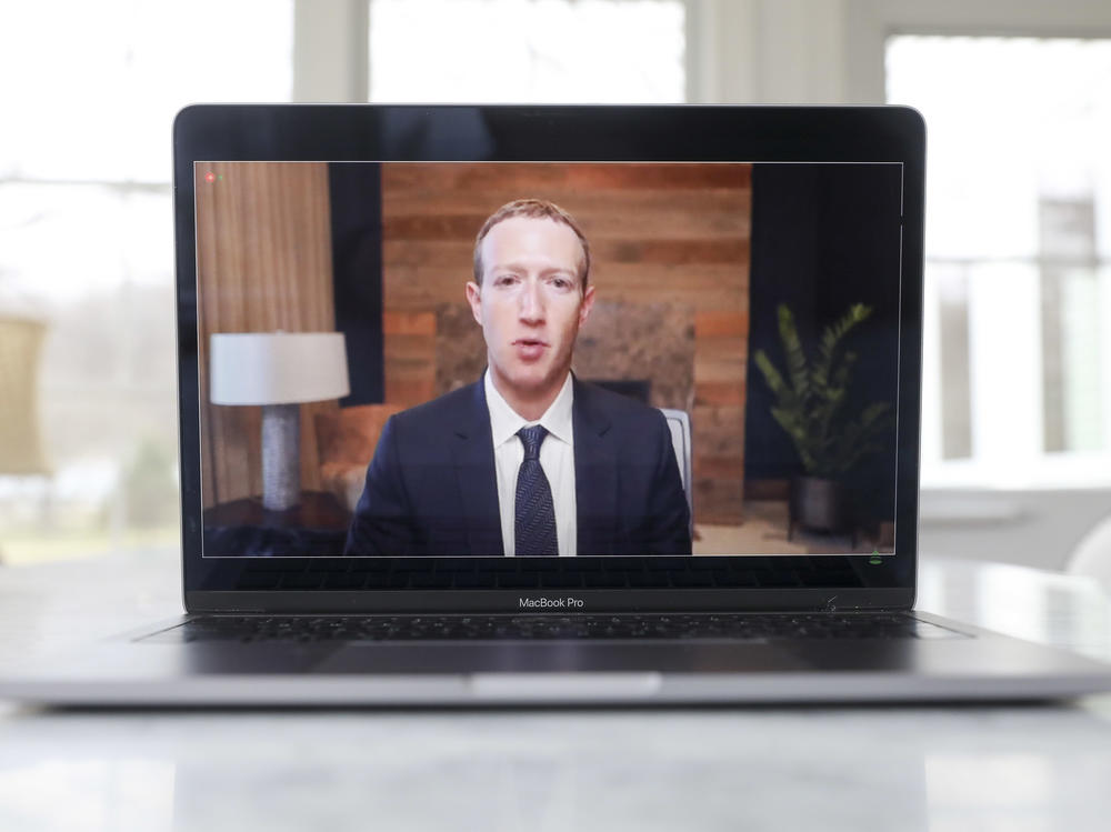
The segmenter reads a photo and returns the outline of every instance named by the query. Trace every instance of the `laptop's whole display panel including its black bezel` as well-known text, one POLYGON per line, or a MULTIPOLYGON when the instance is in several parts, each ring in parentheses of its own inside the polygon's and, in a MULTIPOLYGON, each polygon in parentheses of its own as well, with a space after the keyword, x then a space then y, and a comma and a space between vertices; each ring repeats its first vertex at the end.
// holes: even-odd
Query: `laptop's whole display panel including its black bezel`
POLYGON ((903 108, 187 108, 187 608, 909 604, 923 160, 903 108))

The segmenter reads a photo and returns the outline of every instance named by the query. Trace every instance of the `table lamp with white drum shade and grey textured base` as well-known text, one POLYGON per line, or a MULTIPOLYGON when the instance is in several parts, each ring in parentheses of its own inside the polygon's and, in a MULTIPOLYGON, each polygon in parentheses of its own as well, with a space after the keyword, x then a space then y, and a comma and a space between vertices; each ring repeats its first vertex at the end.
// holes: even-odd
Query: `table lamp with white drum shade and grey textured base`
POLYGON ((286 511, 301 495, 301 404, 351 392, 342 332, 218 332, 209 399, 262 405, 262 507, 286 511))

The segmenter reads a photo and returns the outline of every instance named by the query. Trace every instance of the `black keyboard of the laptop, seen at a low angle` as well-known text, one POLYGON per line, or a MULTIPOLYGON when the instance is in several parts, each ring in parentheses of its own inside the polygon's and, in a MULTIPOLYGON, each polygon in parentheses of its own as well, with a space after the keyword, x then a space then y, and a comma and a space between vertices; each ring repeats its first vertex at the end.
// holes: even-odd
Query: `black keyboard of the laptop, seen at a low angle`
POLYGON ((939 639, 964 633, 902 613, 667 615, 204 615, 156 633, 158 641, 497 641, 608 639, 774 641, 939 639))

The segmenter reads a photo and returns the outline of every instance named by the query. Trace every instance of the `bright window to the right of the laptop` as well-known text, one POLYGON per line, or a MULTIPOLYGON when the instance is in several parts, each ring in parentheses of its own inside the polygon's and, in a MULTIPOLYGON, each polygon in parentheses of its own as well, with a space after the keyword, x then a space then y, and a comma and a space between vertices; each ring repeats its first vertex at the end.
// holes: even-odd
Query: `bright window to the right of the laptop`
POLYGON ((923 485, 1111 482, 1111 41, 900 36, 929 132, 923 485))

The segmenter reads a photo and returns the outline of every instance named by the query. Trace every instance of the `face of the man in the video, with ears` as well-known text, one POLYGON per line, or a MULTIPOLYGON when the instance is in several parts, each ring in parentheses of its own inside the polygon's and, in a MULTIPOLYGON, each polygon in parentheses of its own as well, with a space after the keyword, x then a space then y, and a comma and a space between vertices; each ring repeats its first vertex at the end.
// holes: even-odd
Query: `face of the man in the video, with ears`
POLYGON ((502 395, 542 398, 562 385, 594 302, 579 278, 582 255, 574 231, 547 218, 511 217, 482 241, 482 285, 468 283, 467 300, 502 395))

